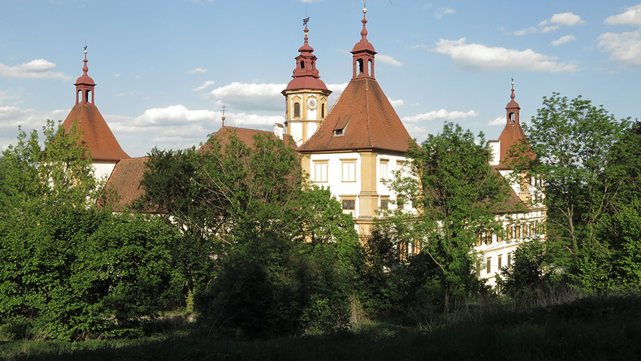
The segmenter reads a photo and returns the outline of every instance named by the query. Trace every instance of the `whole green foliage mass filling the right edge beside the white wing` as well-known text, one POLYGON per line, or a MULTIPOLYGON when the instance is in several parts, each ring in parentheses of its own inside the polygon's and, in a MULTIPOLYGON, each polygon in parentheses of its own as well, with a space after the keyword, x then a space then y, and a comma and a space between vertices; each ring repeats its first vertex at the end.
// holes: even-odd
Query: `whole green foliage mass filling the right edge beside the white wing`
MULTIPOLYGON (((569 100, 553 93, 524 128, 537 158, 525 159, 527 146, 520 144, 511 152, 513 165, 545 178, 545 247, 555 250, 545 252, 548 264, 554 255, 557 271, 584 291, 639 289, 641 259, 634 254, 640 239, 635 199, 641 196, 641 124, 617 121, 581 96, 569 100)), ((536 262, 529 264, 531 272, 516 268, 509 284, 532 283, 528 275, 536 262)), ((538 272, 549 269, 539 265, 538 272)))

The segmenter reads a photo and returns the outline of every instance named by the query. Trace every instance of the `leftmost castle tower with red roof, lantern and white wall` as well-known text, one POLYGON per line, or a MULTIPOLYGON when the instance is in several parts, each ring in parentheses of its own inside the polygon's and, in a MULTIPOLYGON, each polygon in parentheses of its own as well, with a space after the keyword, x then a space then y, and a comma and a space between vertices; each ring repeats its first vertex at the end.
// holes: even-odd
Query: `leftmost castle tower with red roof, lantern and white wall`
POLYGON ((116 162, 121 159, 130 158, 114 137, 109 125, 102 118, 102 114, 95 106, 95 82, 87 74, 87 50, 84 50, 84 66, 82 75, 76 80, 76 104, 69 112, 63 123, 65 132, 71 130, 76 124, 77 129, 82 132, 82 141, 91 154, 95 177, 100 179, 109 177, 116 162))

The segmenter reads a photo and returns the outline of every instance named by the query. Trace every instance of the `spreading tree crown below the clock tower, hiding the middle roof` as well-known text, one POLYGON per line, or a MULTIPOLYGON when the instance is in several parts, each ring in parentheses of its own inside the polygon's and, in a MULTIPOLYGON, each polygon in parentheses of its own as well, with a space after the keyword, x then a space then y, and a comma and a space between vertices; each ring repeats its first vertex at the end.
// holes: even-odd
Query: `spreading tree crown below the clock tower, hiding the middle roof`
POLYGON ((146 165, 136 208, 160 211, 183 233, 174 256, 190 292, 216 277, 240 241, 298 236, 300 160, 276 137, 256 135, 252 148, 235 134, 211 137, 201 151, 154 148, 146 165))

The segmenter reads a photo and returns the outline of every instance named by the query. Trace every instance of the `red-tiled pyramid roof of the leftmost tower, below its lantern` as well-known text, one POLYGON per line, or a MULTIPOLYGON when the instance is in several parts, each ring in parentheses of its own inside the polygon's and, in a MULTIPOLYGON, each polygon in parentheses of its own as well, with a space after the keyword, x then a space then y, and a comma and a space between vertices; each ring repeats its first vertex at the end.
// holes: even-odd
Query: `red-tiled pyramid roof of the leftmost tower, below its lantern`
POLYGON ((75 105, 63 123, 65 132, 69 132, 75 121, 93 160, 117 161, 130 158, 118 144, 114 133, 111 132, 105 118, 102 118, 102 114, 95 105, 89 103, 75 105))

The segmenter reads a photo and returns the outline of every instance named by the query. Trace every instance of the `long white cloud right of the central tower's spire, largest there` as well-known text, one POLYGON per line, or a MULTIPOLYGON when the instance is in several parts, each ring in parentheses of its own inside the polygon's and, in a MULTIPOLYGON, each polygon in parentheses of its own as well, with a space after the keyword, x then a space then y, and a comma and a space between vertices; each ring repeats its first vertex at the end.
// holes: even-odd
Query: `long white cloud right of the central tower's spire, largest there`
POLYGON ((559 63, 554 56, 539 54, 532 49, 515 50, 488 47, 482 44, 466 44, 465 38, 440 39, 434 51, 449 55, 454 64, 463 70, 517 69, 541 72, 577 70, 574 63, 559 63))

